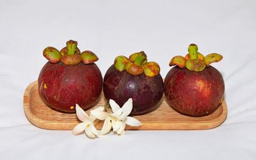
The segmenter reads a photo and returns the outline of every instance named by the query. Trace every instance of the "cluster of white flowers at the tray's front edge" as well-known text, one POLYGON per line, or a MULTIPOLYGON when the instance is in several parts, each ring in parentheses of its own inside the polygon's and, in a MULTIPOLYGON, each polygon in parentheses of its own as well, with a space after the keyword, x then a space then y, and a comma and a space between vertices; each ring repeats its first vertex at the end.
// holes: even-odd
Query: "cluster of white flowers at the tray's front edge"
POLYGON ((76 127, 74 127, 72 134, 77 135, 85 131, 89 138, 95 138, 99 133, 94 125, 97 124, 99 120, 104 120, 100 135, 108 133, 111 128, 113 128, 113 132, 123 135, 125 134, 124 129, 126 124, 131 126, 141 125, 139 120, 128 116, 132 111, 132 99, 127 100, 122 108, 120 108, 120 106, 118 106, 112 99, 109 100, 109 105, 111 110, 99 107, 93 109, 90 112, 90 116, 88 116, 84 110, 76 104, 77 118, 79 118, 82 123, 77 124, 76 127))

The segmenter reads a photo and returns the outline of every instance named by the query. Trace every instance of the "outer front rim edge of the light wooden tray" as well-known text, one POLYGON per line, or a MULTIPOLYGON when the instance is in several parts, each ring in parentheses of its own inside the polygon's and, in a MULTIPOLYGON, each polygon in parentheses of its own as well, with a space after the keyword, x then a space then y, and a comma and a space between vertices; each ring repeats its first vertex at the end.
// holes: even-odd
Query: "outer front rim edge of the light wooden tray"
MULTIPOLYGON (((36 127, 40 127, 42 129, 51 129, 51 130, 72 130, 77 122, 59 122, 54 120, 43 120, 35 116, 30 110, 30 92, 33 86, 37 81, 28 85, 24 92, 24 112, 29 122, 36 127)), ((200 122, 142 122, 140 127, 132 127, 127 125, 125 129, 127 130, 205 130, 212 129, 221 125, 225 119, 227 118, 227 104, 225 99, 221 104, 223 107, 223 112, 217 118, 212 120, 203 120, 200 122)), ((221 107, 220 106, 220 107, 221 107)), ((95 125, 97 129, 102 128, 102 123, 95 125)))

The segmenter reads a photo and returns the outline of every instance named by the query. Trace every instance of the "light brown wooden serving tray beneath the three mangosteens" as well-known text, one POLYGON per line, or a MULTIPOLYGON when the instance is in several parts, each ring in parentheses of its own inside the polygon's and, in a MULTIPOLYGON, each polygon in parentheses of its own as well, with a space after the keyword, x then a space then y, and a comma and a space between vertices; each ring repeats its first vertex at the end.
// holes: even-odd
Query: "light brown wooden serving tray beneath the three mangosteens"
MULTIPOLYGON (((100 98, 86 113, 98 106, 104 106, 106 99, 103 92, 100 98)), ((198 129, 212 129, 222 124, 227 117, 227 104, 225 99, 214 113, 208 116, 186 116, 177 111, 174 111, 166 101, 165 96, 159 102, 159 107, 146 114, 134 116, 142 125, 140 127, 131 127, 127 125, 125 129, 128 130, 198 130, 198 129)), ((61 113, 45 105, 40 98, 38 92, 37 81, 29 84, 24 93, 24 111, 31 122, 42 129, 58 129, 58 130, 72 130, 79 122, 76 113, 61 113)), ((89 114, 88 114, 89 115, 89 114)), ((101 129, 103 122, 95 125, 97 129, 101 129)))

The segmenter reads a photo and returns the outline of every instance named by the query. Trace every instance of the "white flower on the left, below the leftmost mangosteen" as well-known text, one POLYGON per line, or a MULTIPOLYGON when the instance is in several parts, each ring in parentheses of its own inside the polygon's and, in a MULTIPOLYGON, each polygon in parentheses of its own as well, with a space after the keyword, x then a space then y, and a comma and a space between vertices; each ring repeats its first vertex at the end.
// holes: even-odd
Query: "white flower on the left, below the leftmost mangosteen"
MULTIPOLYGON (((95 109, 96 111, 104 111, 104 107, 99 107, 95 109)), ((76 115, 79 120, 82 121, 82 123, 77 124, 76 127, 74 127, 72 134, 77 135, 81 132, 85 131, 86 135, 89 138, 95 138, 99 135, 97 129, 95 128, 93 122, 97 119, 95 116, 91 115, 88 116, 85 111, 79 107, 78 104, 76 104, 76 115)))

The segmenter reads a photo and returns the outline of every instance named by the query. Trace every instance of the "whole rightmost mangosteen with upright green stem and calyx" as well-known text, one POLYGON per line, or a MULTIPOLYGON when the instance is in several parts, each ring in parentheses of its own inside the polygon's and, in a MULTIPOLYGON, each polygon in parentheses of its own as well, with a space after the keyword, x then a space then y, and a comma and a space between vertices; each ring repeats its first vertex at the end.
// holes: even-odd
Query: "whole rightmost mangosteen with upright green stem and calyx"
POLYGON ((195 44, 189 45, 188 51, 186 57, 175 56, 170 61, 170 66, 177 66, 164 79, 164 94, 180 113, 209 115, 220 106, 225 91, 223 77, 210 64, 223 57, 216 53, 204 57, 195 44))

